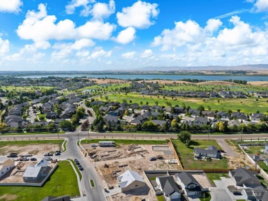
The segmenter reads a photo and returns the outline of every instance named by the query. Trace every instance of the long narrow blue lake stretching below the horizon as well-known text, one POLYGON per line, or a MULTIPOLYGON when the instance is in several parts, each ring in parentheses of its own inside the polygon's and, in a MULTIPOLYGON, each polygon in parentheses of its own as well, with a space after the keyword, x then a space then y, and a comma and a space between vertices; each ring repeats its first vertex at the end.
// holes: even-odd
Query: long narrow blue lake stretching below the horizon
POLYGON ((141 78, 145 80, 151 79, 162 79, 162 80, 173 80, 179 81, 185 78, 199 79, 206 81, 223 81, 223 80, 243 80, 243 81, 268 81, 268 76, 191 76, 191 75, 169 75, 169 74, 54 74, 54 75, 34 75, 34 76, 20 76, 23 78, 41 78, 47 76, 58 76, 58 77, 82 77, 87 76, 88 78, 118 78, 118 79, 135 79, 141 78))

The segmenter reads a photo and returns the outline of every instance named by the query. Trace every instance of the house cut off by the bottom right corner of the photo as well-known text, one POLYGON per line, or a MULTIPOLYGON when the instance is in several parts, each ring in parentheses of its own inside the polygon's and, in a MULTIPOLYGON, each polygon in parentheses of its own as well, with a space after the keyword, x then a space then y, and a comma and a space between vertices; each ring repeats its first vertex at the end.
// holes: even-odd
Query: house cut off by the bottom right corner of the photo
POLYGON ((243 189, 242 194, 245 196, 245 200, 264 201, 268 200, 268 191, 263 186, 258 186, 253 189, 243 189))

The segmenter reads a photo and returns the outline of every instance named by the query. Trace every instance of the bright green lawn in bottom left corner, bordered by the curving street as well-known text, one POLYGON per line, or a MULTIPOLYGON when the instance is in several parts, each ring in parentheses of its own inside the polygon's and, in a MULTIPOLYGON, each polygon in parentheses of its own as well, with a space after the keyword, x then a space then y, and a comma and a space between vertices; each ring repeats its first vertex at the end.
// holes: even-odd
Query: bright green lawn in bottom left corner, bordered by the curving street
POLYGON ((76 173, 68 161, 59 162, 59 166, 43 187, 0 187, 0 200, 42 200, 52 195, 80 195, 76 173), (12 199, 8 199, 12 198, 12 199))

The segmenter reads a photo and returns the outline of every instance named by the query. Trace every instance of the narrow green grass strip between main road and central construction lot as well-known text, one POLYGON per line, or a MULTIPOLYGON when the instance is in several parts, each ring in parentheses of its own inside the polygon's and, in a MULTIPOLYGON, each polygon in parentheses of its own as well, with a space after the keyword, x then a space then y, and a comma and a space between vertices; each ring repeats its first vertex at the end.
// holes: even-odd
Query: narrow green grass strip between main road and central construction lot
POLYGON ((114 141, 115 144, 124 144, 124 145, 166 145, 168 143, 167 140, 118 140, 118 139, 93 139, 93 140, 81 140, 81 144, 89 144, 89 143, 98 143, 99 141, 114 141))

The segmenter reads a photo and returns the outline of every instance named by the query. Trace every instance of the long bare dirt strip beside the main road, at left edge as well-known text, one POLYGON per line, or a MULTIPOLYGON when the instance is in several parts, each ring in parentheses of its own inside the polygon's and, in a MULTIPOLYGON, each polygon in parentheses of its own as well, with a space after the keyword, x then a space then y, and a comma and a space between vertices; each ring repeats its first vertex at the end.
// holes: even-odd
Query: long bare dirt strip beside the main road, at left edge
POLYGON ((50 144, 36 144, 36 145, 7 145, 0 148, 0 155, 7 155, 12 152, 16 152, 18 154, 26 155, 26 154, 33 154, 39 155, 44 154, 45 152, 54 152, 55 150, 60 149, 60 146, 50 145, 50 144))

